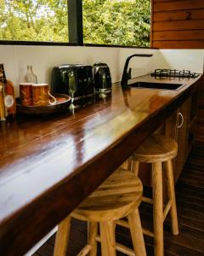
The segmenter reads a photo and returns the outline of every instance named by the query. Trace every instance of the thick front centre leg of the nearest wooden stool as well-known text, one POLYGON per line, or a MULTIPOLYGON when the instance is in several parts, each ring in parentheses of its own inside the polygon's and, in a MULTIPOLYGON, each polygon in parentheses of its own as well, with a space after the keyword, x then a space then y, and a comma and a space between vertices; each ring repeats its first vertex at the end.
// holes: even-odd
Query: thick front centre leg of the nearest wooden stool
POLYGON ((116 236, 114 222, 100 222, 99 227, 102 256, 116 256, 116 236))

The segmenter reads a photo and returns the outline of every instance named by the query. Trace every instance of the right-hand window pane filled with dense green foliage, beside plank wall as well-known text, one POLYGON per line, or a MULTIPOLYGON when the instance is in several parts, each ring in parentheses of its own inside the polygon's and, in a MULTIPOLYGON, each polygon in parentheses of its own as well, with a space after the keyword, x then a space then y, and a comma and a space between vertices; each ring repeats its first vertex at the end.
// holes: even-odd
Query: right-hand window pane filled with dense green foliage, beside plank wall
POLYGON ((82 0, 85 44, 150 46, 150 0, 82 0))

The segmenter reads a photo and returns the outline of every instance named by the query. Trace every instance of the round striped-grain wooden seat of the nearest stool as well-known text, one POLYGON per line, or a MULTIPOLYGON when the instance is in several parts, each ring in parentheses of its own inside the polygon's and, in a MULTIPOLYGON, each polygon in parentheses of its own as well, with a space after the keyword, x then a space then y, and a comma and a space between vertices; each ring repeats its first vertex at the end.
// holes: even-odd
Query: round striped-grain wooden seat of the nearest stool
POLYGON ((142 194, 143 185, 139 177, 118 168, 71 212, 71 216, 88 222, 123 218, 139 207, 142 194))

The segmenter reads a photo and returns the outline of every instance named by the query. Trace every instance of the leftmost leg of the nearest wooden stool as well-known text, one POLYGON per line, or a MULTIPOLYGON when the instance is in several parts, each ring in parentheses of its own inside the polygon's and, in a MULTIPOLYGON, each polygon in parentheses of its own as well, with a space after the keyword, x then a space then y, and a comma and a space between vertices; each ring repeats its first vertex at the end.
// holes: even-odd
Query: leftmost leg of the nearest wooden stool
POLYGON ((65 256, 71 229, 71 216, 65 218, 58 226, 54 244, 54 256, 65 256))

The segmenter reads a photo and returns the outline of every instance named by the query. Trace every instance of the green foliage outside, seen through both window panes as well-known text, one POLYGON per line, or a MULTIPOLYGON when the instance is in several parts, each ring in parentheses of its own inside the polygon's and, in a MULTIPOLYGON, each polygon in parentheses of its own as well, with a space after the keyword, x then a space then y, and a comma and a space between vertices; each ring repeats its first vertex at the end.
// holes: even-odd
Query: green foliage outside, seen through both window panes
MULTIPOLYGON (((86 44, 150 44, 150 0, 82 0, 86 44)), ((68 42, 67 0, 0 0, 0 40, 68 42)))

